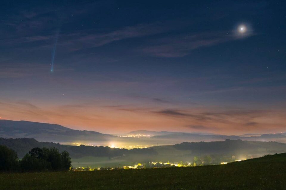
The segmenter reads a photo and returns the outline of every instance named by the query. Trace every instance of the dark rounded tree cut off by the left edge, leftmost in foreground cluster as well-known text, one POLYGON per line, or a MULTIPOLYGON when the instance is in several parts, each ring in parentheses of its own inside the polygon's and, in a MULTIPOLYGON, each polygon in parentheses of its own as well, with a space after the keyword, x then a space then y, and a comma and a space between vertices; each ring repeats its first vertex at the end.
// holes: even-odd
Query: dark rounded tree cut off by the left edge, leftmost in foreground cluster
POLYGON ((17 153, 7 146, 0 145, 0 171, 18 170, 17 153))

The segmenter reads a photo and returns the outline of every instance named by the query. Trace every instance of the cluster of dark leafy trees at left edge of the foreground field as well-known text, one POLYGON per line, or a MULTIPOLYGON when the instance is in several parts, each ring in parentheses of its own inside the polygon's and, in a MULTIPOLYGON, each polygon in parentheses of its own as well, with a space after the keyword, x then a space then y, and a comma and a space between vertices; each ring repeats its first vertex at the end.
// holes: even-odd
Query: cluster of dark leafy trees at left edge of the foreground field
POLYGON ((17 153, 0 145, 0 171, 64 171, 71 168, 71 158, 67 151, 61 153, 55 147, 32 148, 21 160, 17 153))

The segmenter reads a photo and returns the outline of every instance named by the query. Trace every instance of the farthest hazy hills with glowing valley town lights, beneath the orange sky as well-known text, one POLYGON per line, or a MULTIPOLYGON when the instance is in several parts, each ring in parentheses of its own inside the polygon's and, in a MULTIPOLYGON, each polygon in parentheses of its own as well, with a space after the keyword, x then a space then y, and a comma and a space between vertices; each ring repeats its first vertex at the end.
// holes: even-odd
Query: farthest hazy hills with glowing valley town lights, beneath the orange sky
POLYGON ((186 133, 169 131, 137 130, 122 135, 103 134, 100 132, 74 130, 57 124, 38 123, 31 121, 0 120, 0 137, 3 138, 34 138, 38 141, 56 142, 61 144, 81 143, 111 146, 117 143, 120 148, 148 147, 154 145, 174 145, 181 142, 210 142, 230 140, 277 141, 286 143, 286 133, 279 134, 245 134, 221 135, 212 133, 186 133), (149 135, 148 138, 130 138, 136 134, 149 135), (128 137, 129 136, 129 137, 128 137))

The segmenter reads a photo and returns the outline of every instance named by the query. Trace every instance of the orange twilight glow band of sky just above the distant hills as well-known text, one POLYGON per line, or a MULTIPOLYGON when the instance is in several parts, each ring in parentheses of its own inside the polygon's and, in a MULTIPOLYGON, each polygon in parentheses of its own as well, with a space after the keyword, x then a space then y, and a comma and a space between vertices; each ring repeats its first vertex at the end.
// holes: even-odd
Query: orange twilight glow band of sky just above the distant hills
POLYGON ((42 107, 23 102, 0 102, 1 118, 59 124, 71 129, 101 133, 134 130, 209 132, 240 135, 285 131, 285 112, 281 110, 62 105, 42 107))

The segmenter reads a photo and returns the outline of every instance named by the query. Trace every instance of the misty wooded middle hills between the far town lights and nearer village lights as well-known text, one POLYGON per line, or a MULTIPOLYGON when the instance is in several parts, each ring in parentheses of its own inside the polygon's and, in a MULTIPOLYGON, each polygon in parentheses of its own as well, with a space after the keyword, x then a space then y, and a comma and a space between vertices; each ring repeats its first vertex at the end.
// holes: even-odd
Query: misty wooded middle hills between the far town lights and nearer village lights
MULTIPOLYGON (((256 142, 242 140, 225 140, 214 142, 184 142, 175 145, 154 146, 152 148, 119 149, 103 146, 70 146, 59 143, 39 142, 30 138, 0 138, 0 145, 15 150, 21 158, 35 147, 56 147, 68 151, 72 158, 85 156, 123 156, 133 162, 149 161, 192 161, 194 156, 217 155, 236 156, 237 158, 258 157, 269 153, 286 152, 286 144, 277 142, 256 142)), ((216 157, 216 156, 214 156, 216 157)))

